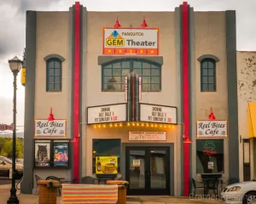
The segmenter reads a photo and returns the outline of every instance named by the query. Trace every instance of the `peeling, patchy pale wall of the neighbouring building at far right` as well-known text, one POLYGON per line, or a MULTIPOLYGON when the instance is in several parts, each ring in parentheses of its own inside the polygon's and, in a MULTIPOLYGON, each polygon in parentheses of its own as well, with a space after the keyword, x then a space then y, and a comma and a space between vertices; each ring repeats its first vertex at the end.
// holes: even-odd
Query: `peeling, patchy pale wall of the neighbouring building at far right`
MULTIPOLYGON (((248 102, 256 102, 256 52, 237 52, 237 99, 238 99, 238 127, 241 139, 248 138, 247 111, 248 102)), ((253 143, 251 142, 251 150, 253 143)), ((240 178, 243 179, 243 151, 240 143, 240 178)), ((253 154, 251 154, 253 164, 253 154)), ((254 178, 254 169, 251 165, 251 175, 254 178)))

